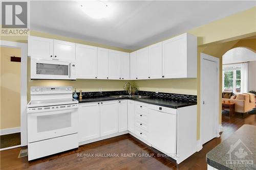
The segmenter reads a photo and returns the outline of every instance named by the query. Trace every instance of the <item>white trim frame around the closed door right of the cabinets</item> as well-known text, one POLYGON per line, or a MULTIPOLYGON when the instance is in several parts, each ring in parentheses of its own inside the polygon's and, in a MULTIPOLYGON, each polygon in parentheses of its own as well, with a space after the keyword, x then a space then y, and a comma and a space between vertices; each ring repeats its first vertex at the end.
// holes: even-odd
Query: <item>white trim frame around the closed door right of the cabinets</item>
MULTIPOLYGON (((203 100, 202 100, 202 61, 203 59, 205 60, 209 60, 209 61, 213 61, 213 62, 216 62, 217 63, 217 89, 216 89, 216 93, 218 94, 217 95, 217 102, 216 102, 216 119, 215 119, 215 123, 216 123, 216 137, 220 137, 220 134, 219 134, 219 92, 220 92, 220 59, 217 58, 217 57, 213 57, 213 56, 210 56, 210 55, 207 55, 207 54, 204 54, 204 53, 201 53, 200 55, 201 57, 201 60, 200 60, 200 121, 202 121, 202 106, 203 106, 203 100)), ((202 126, 201 126, 201 122, 200 122, 200 141, 201 141, 201 132, 202 132, 202 126)), ((204 143, 201 143, 201 145, 203 145, 204 143)))

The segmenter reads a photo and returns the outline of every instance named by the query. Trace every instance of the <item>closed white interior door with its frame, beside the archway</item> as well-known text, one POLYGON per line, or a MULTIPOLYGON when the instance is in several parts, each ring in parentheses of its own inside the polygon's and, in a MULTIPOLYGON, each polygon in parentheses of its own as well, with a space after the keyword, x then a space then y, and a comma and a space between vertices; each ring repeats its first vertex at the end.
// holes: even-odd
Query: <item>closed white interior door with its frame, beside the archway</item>
POLYGON ((219 59, 201 53, 201 144, 217 135, 219 59))

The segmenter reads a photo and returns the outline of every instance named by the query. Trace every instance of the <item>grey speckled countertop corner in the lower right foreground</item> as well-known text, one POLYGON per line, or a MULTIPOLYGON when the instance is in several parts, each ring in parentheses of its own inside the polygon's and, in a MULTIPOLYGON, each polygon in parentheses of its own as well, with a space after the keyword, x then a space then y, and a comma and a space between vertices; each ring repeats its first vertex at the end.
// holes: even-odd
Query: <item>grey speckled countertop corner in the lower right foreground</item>
POLYGON ((256 126, 243 125, 206 154, 206 161, 217 169, 256 169, 256 126))

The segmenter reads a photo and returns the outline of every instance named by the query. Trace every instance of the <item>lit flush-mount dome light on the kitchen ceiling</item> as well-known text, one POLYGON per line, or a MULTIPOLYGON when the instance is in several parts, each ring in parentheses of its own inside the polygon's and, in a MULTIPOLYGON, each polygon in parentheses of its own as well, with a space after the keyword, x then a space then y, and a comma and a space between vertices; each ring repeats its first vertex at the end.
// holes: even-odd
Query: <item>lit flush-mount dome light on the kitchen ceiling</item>
POLYGON ((101 19, 111 15, 111 8, 103 1, 81 1, 79 2, 83 12, 88 16, 101 19))

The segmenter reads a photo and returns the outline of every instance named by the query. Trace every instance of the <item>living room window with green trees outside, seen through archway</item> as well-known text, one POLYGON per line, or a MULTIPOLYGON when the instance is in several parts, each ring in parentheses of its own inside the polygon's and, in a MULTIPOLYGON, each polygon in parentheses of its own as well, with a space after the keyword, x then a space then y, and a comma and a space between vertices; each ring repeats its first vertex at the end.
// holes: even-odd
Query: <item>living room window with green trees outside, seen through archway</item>
POLYGON ((226 92, 241 92, 241 65, 223 65, 223 90, 226 92))

